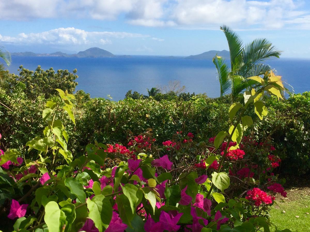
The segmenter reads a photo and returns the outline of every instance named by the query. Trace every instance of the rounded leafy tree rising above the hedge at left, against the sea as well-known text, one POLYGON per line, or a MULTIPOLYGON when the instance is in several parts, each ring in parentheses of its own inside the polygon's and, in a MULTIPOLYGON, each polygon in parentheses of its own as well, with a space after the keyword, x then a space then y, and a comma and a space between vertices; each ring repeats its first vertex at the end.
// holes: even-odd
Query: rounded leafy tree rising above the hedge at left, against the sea
POLYGON ((72 72, 68 70, 58 70, 56 73, 53 68, 44 71, 40 66, 35 71, 29 71, 22 65, 18 69, 19 75, 9 74, 8 91, 13 91, 19 83, 25 85, 24 92, 31 100, 35 100, 39 95, 44 95, 46 99, 56 95, 56 88, 67 89, 69 93, 73 93, 78 85, 75 79, 77 70, 72 72))

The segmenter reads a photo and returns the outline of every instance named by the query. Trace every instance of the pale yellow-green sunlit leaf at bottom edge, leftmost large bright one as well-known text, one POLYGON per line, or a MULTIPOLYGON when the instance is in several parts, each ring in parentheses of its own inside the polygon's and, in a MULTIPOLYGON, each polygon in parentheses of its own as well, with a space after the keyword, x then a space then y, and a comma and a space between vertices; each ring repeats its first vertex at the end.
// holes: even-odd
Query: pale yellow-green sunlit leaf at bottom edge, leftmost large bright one
POLYGON ((50 201, 45 206, 44 221, 48 227, 49 232, 59 232, 60 227, 60 214, 61 210, 55 201, 50 201))

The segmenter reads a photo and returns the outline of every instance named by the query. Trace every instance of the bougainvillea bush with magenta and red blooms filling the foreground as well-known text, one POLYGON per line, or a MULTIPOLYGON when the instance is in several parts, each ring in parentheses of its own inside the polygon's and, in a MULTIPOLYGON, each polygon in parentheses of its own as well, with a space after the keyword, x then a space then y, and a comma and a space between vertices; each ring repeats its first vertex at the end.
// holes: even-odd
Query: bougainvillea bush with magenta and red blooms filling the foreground
MULTIPOLYGON (((264 92, 282 98, 272 72, 248 78, 251 91, 231 105, 229 130, 197 143, 176 132, 162 146, 147 133, 128 144, 88 144, 73 156, 58 119, 75 124, 74 96, 56 89, 42 112, 42 136, 23 151, 1 151, 0 217, 4 231, 270 231, 268 207, 286 193, 272 172, 281 160, 268 142, 243 136, 268 109, 264 92), (31 159, 26 154, 35 154, 31 159)), ((168 138, 167 138, 168 139, 168 138)), ((276 231, 277 230, 276 228, 276 231)))

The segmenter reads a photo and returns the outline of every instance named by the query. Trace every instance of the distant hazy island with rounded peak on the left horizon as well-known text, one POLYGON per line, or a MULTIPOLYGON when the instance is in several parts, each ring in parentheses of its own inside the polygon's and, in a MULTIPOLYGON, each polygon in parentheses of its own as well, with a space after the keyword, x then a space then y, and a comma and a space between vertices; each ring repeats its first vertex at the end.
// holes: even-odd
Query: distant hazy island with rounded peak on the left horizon
POLYGON ((92 57, 92 58, 98 58, 98 57, 115 57, 114 54, 108 52, 107 50, 101 49, 101 48, 89 48, 85 51, 80 51, 77 54, 67 54, 63 52, 54 52, 54 53, 44 53, 44 54, 37 54, 33 52, 13 52, 11 56, 58 56, 58 57, 92 57))

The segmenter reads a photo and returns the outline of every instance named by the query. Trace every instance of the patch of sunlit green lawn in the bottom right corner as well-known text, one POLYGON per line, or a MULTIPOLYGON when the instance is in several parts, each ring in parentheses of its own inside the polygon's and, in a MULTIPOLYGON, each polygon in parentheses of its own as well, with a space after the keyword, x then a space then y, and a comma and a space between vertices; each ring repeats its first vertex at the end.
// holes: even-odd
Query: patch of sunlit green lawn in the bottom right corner
MULTIPOLYGON (((272 206, 270 219, 279 230, 310 231, 310 214, 307 214, 310 213, 310 196, 307 193, 308 191, 296 191, 292 194, 293 197, 290 197, 292 200, 282 198, 272 206)), ((288 195, 290 195, 290 191, 288 191, 288 195)))

